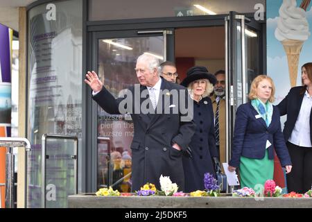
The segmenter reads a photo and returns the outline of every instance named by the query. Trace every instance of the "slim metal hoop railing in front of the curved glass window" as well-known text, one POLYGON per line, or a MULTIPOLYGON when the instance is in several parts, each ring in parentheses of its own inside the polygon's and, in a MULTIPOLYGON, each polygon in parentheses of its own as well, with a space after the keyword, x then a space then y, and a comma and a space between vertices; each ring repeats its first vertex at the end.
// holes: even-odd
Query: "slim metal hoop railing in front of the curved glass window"
POLYGON ((53 134, 44 134, 42 135, 42 208, 46 207, 46 139, 69 139, 75 142, 74 155, 72 159, 76 160, 74 164, 74 181, 76 194, 78 194, 78 137, 66 136, 66 135, 53 135, 53 134))

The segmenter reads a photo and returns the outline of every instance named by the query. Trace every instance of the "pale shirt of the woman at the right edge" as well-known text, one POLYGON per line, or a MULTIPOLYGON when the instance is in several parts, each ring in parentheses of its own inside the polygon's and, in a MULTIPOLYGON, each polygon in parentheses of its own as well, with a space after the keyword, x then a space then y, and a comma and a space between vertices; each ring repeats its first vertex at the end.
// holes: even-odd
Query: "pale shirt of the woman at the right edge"
POLYGON ((302 100, 300 112, 291 133, 289 142, 297 146, 312 147, 310 139, 310 114, 312 108, 312 96, 306 91, 302 100))

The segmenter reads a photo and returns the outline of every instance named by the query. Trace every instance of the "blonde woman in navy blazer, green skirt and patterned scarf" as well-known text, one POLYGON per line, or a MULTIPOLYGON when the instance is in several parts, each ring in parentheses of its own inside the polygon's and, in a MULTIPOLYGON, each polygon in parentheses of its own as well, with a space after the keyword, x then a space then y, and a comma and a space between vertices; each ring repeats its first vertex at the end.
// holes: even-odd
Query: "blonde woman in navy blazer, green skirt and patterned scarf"
POLYGON ((240 105, 236 111, 232 159, 229 171, 239 168, 241 187, 254 188, 272 180, 274 151, 286 173, 291 172, 284 136, 281 133, 279 109, 272 105, 275 86, 272 78, 257 76, 252 81, 250 102, 240 105))

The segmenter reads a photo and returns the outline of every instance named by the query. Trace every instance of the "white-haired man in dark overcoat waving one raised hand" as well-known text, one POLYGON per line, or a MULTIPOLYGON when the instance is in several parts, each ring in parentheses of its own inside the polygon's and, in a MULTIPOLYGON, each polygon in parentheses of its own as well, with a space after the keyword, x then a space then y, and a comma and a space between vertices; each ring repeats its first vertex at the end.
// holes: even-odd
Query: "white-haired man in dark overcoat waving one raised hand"
POLYGON ((135 135, 132 140, 132 191, 146 182, 160 189, 159 177, 169 176, 184 189, 182 154, 195 131, 193 103, 187 89, 159 76, 159 61, 143 54, 135 67, 140 84, 117 99, 105 89, 97 74, 88 71, 85 83, 93 99, 110 114, 131 114, 135 135), (146 97, 148 97, 146 99, 146 97))

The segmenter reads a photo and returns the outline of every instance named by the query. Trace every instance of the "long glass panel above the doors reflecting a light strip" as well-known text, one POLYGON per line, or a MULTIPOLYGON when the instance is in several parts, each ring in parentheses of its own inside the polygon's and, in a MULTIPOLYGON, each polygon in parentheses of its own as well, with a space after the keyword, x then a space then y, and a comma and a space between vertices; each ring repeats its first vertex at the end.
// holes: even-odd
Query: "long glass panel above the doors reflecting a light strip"
POLYGON ((266 0, 89 0, 89 21, 224 15, 229 11, 254 12, 254 6, 266 8, 266 0), (165 7, 164 7, 165 6, 165 7))

